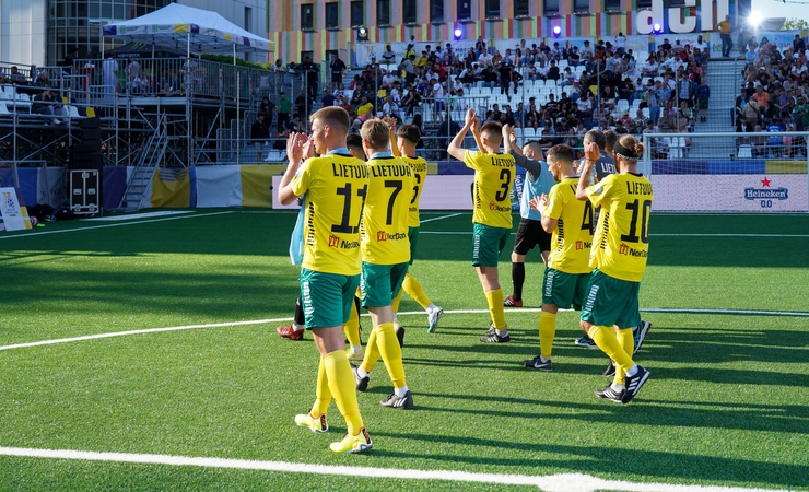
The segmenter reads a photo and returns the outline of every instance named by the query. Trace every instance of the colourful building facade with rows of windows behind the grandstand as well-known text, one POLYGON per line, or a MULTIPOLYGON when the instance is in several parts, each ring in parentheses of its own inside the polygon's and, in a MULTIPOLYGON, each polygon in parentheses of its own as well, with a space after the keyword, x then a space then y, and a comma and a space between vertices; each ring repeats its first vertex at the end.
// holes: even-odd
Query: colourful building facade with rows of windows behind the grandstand
POLYGON ((272 0, 268 38, 277 57, 314 61, 351 50, 360 27, 371 43, 607 37, 712 31, 725 15, 746 15, 750 0, 272 0))

